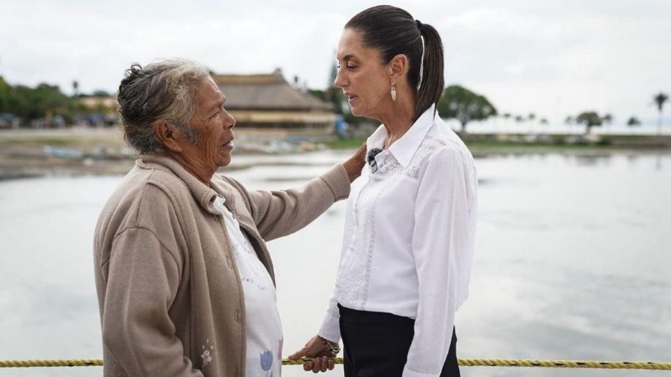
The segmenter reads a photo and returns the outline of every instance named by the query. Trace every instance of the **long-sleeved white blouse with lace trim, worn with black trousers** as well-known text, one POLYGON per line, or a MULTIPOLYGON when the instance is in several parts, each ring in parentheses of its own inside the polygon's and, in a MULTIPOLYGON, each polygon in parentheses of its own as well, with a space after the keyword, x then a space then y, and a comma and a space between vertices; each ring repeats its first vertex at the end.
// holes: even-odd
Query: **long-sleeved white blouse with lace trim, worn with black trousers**
MULTIPOLYGON (((368 150, 384 146, 384 125, 368 150)), ((340 303, 415 319, 403 377, 439 376, 468 297, 477 174, 433 106, 363 168, 347 202, 338 279, 319 335, 340 339, 340 303)))

